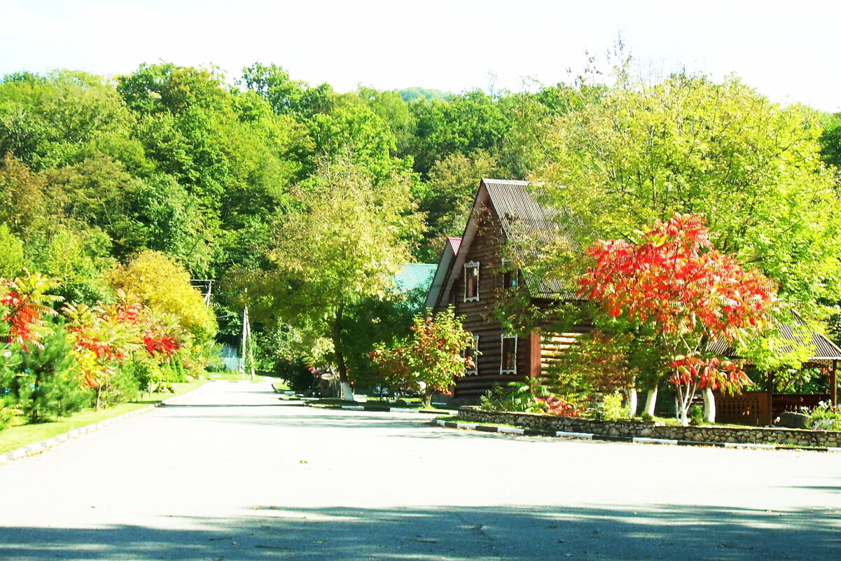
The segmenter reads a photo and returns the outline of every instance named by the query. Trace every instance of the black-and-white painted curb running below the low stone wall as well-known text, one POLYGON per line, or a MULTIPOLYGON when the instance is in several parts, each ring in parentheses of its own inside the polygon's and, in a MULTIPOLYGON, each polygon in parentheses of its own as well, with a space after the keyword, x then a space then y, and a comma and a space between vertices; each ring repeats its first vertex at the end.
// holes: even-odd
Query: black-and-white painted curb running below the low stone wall
POLYGON ((810 446, 778 446, 776 444, 746 444, 742 442, 693 442, 688 440, 669 440, 665 438, 614 437, 612 435, 592 434, 590 432, 537 431, 533 429, 515 428, 513 426, 478 425, 476 423, 442 421, 440 419, 430 421, 430 425, 441 426, 443 428, 448 429, 461 429, 463 431, 514 434, 523 437, 578 438, 581 440, 599 440, 606 442, 636 442, 639 444, 668 444, 672 446, 710 446, 717 448, 749 448, 753 450, 805 450, 807 452, 841 453, 841 447, 833 448, 810 446))

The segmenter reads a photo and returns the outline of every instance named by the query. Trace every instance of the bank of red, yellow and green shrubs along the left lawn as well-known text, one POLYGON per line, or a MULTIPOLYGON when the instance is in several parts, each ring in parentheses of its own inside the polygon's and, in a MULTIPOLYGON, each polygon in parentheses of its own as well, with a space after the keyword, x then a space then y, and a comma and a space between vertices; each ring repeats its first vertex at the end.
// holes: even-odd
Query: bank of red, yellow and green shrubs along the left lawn
MULTIPOLYGON (((159 274, 146 283, 163 280, 172 294, 182 294, 181 308, 189 297, 198 299, 194 308, 208 317, 186 273, 170 278, 167 272, 177 272, 177 266, 167 257, 157 259, 149 274, 159 274)), ((136 278, 131 269, 117 273, 124 286, 136 278)), ((13 416, 30 423, 55 421, 92 405, 99 409, 135 400, 141 389, 186 381, 188 373, 204 373, 203 346, 212 341, 214 324, 191 330, 190 316, 171 314, 155 299, 147 298, 146 304, 123 288, 113 290, 111 304, 65 303, 60 314, 50 304, 57 306, 61 297, 47 294, 60 287, 37 273, 0 279, 0 328, 8 334, 0 347, 0 429, 13 416)))

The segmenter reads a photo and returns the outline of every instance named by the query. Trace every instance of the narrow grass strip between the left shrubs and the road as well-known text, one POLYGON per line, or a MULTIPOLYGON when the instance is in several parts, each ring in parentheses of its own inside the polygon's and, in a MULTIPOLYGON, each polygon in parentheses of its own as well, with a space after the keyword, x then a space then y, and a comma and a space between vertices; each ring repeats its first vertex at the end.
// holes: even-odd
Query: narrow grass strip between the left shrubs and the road
POLYGON ((57 437, 80 426, 94 425, 99 421, 107 421, 112 417, 142 409, 147 405, 153 405, 158 401, 167 400, 176 395, 186 394, 188 391, 198 388, 198 386, 205 382, 207 380, 199 379, 193 382, 176 383, 172 384, 172 389, 175 390, 175 393, 147 394, 141 400, 114 405, 114 407, 108 407, 107 409, 82 410, 59 421, 9 427, 5 431, 0 431, 0 454, 11 452, 19 447, 41 442, 48 438, 57 437))

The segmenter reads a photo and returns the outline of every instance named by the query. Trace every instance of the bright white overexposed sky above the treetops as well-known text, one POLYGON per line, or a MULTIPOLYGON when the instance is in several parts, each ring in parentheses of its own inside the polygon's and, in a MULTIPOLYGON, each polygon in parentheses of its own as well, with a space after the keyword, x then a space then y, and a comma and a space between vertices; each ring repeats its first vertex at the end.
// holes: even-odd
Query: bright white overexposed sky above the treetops
POLYGON ((0 75, 256 61, 337 91, 519 91, 606 69, 734 74, 777 103, 841 111, 841 3, 800 0, 0 0, 0 75))

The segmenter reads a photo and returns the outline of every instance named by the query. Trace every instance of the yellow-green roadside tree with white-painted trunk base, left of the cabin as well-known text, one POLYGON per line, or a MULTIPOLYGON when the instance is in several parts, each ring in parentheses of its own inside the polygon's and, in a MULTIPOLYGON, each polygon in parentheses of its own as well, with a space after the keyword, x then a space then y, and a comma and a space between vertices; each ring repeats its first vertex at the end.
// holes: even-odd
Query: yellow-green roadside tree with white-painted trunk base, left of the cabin
POLYGON ((331 340, 348 400, 346 312, 385 296, 420 231, 405 179, 375 187, 365 172, 346 160, 325 161, 270 255, 277 267, 272 305, 286 323, 331 340))

